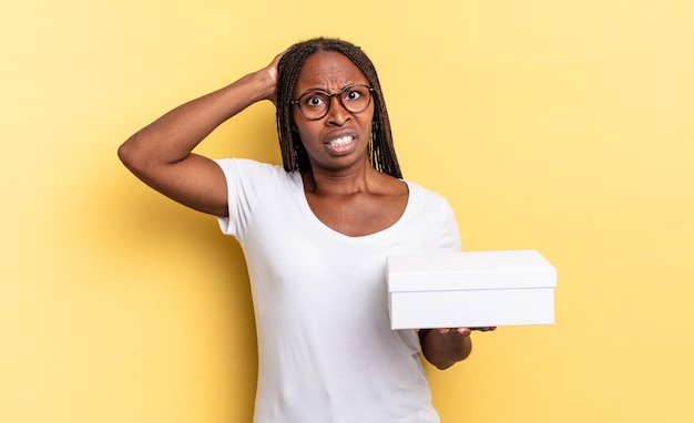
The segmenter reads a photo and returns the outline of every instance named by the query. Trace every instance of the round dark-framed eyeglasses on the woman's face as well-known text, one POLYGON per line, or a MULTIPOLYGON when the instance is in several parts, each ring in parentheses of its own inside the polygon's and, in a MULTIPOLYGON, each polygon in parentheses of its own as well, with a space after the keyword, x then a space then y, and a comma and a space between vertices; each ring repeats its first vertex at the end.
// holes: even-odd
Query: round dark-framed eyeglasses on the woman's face
POLYGON ((293 100, 292 104, 299 106, 302 114, 309 121, 323 118, 330 110, 334 96, 339 104, 350 113, 361 113, 371 104, 374 89, 364 84, 349 84, 337 93, 326 93, 322 90, 308 90, 293 100))

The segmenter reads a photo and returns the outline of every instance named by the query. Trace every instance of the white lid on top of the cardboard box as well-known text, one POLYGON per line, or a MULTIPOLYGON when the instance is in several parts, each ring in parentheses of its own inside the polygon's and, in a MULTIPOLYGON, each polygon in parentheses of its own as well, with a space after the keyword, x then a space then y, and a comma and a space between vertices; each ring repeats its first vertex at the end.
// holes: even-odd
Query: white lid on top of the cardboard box
POLYGON ((392 255, 387 261, 390 292, 557 286, 557 269, 537 250, 392 255))

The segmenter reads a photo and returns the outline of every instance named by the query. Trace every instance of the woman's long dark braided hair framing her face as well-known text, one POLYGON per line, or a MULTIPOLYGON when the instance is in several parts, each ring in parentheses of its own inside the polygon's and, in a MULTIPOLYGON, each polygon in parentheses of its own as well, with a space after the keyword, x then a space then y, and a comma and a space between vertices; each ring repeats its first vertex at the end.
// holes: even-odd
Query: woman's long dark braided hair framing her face
POLYGON ((368 80, 369 85, 374 89, 375 106, 371 123, 371 147, 369 149, 371 166, 385 174, 402 178, 392 145, 386 102, 374 63, 359 47, 347 41, 328 38, 316 38, 292 45, 277 65, 277 134, 279 135, 279 147, 285 171, 304 171, 310 167, 302 138, 298 132, 292 130, 292 94, 304 62, 309 55, 320 51, 336 51, 344 54, 359 68, 368 80))

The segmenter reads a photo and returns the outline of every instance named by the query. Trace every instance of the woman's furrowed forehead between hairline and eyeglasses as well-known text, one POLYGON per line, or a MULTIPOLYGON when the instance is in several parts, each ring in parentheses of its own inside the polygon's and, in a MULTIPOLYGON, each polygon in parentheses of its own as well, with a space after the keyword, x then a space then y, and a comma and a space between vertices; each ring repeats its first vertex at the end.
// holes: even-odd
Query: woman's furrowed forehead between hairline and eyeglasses
POLYGON ((309 55, 299 71, 295 93, 322 89, 339 91, 351 83, 367 84, 368 80, 349 58, 336 51, 319 51, 309 55))

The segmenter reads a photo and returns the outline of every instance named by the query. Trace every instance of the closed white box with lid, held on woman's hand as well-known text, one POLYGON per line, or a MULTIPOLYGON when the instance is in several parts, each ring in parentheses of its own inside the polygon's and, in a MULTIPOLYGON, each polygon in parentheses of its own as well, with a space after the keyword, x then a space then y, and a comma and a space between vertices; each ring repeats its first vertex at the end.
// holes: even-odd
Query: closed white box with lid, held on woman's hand
POLYGON ((555 287, 535 250, 388 256, 394 330, 553 324, 555 287))

